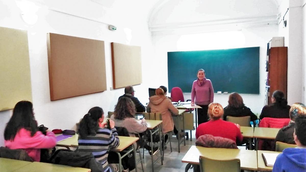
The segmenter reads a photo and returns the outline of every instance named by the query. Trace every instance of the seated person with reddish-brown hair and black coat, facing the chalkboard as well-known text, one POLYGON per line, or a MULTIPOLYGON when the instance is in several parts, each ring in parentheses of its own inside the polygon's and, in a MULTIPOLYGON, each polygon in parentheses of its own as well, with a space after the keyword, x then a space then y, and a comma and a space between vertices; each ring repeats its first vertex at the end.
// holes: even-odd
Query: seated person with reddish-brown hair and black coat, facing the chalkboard
POLYGON ((230 94, 228 103, 229 104, 227 105, 227 107, 224 108, 224 121, 226 121, 227 116, 250 116, 251 121, 257 120, 257 116, 250 110, 250 108, 244 105, 242 97, 237 92, 233 92, 230 94))

